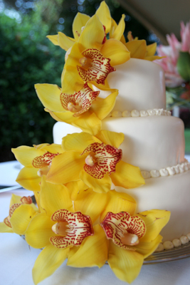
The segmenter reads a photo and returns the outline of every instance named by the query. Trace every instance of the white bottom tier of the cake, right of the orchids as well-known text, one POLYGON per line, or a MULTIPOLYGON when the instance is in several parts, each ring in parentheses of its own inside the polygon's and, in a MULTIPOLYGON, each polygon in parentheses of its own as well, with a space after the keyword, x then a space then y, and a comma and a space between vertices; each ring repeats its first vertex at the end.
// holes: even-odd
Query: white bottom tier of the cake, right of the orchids
POLYGON ((146 184, 134 189, 115 187, 127 192, 137 201, 137 212, 148 209, 167 209, 171 217, 162 229, 163 242, 190 232, 190 170, 168 177, 149 178, 146 184))

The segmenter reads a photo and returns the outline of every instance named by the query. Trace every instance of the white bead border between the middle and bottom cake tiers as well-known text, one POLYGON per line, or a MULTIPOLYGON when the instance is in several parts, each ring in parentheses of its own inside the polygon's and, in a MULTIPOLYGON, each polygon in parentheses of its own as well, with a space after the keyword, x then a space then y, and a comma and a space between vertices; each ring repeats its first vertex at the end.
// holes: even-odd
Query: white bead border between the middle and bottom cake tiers
POLYGON ((150 177, 157 178, 160 176, 176 175, 185 172, 187 170, 190 170, 190 163, 187 160, 185 160, 185 162, 181 164, 162 168, 161 170, 150 170, 150 171, 142 170, 141 174, 144 179, 147 179, 150 177))

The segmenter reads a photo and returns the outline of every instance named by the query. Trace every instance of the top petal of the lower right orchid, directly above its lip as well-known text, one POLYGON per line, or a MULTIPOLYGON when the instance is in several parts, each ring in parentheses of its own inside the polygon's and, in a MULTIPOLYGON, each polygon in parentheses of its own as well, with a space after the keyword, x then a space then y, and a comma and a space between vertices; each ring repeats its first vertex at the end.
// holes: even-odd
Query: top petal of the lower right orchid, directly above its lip
POLYGON ((104 211, 101 214, 100 221, 104 219, 107 212, 119 213, 119 212, 128 212, 130 215, 133 215, 136 209, 137 203, 134 198, 123 192, 116 192, 111 190, 107 193, 107 204, 104 211))

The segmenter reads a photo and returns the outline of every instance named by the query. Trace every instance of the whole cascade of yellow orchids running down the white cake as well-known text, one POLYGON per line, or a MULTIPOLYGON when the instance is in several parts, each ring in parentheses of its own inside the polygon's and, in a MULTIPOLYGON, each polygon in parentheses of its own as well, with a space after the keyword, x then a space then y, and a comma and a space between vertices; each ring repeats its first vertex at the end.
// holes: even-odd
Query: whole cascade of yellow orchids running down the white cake
POLYGON ((65 259, 75 267, 100 268, 107 262, 119 279, 131 283, 162 241, 159 232, 169 221, 165 210, 136 213, 130 195, 111 190, 112 185, 138 187, 144 179, 139 167, 122 161, 124 135, 101 129, 118 93, 110 89, 107 76, 130 60, 130 54, 149 61, 158 58, 155 44, 147 46, 131 33, 126 43, 124 19, 122 15, 117 25, 102 1, 93 17, 77 14, 74 38, 64 33, 48 36, 67 51, 61 88, 36 84, 36 93, 53 118, 83 132, 65 136, 62 145, 12 150, 24 166, 17 182, 33 191, 37 207, 30 196, 13 195, 0 232, 24 235, 31 247, 42 249, 33 266, 34 284, 65 259), (99 98, 93 86, 110 95, 99 98))

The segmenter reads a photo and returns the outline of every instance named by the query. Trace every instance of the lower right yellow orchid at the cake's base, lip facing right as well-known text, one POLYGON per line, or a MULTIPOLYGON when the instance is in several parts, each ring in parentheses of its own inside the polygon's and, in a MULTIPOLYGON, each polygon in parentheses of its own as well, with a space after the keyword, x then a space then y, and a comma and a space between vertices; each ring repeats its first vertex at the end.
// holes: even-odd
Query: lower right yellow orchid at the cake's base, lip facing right
MULTIPOLYGON (((104 238, 108 242, 107 261, 117 278, 131 283, 137 278, 144 259, 152 254, 162 241, 159 232, 169 221, 170 212, 153 209, 135 214, 136 204, 129 195, 110 191, 106 193, 106 196, 107 204, 101 214, 100 222, 105 232, 104 238)), ((81 212, 91 215, 95 212, 95 207, 98 207, 97 203, 101 201, 99 199, 95 202, 95 199, 92 199, 88 207, 84 192, 78 195, 78 199, 84 201, 80 203, 81 212)), ((79 207, 78 199, 74 202, 75 209, 79 207)), ((83 247, 77 251, 70 250, 67 265, 88 266, 90 257, 85 260, 85 254, 89 250, 88 241, 90 238, 86 239, 83 247)))

